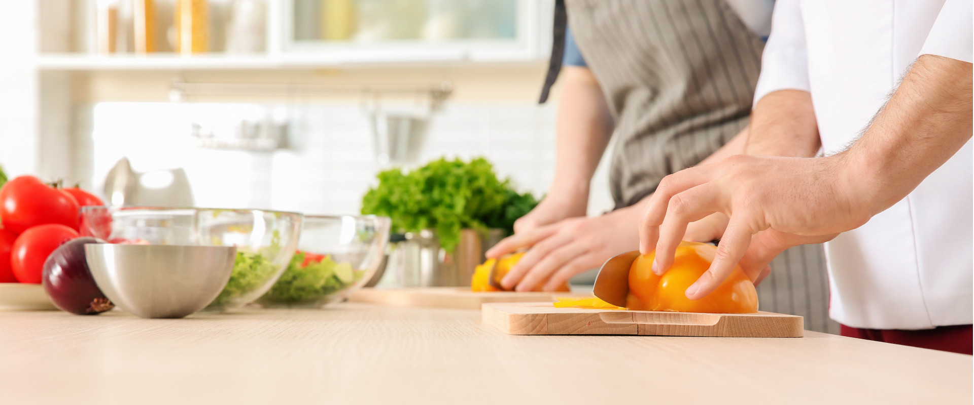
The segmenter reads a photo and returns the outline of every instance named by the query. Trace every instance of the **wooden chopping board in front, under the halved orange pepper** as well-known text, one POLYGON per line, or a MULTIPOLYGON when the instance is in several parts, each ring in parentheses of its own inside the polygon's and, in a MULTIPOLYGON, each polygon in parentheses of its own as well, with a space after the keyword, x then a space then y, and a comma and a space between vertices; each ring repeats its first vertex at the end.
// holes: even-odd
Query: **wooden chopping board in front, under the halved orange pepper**
POLYGON ((802 337, 795 315, 555 308, 547 302, 488 303, 483 323, 511 335, 802 337))

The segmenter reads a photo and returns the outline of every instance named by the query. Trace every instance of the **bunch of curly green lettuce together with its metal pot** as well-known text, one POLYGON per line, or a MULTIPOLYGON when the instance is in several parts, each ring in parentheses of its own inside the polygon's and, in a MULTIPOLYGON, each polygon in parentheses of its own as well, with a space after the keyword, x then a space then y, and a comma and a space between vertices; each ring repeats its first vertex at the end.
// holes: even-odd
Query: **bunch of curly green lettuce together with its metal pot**
MULTIPOLYGON (((513 230, 514 220, 538 205, 479 157, 440 158, 404 172, 378 175, 379 185, 362 198, 362 214, 393 219, 404 286, 468 286, 484 252, 513 230)), ((395 266, 391 264, 390 266, 395 266)))

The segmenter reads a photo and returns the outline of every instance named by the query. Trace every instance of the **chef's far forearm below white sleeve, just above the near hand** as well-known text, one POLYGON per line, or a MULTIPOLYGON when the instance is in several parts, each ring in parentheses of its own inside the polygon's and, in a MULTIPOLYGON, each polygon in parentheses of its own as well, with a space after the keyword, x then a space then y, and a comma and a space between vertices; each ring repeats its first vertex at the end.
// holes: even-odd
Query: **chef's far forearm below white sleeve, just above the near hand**
POLYGON ((807 91, 777 90, 758 101, 751 114, 747 154, 811 157, 820 146, 807 91))

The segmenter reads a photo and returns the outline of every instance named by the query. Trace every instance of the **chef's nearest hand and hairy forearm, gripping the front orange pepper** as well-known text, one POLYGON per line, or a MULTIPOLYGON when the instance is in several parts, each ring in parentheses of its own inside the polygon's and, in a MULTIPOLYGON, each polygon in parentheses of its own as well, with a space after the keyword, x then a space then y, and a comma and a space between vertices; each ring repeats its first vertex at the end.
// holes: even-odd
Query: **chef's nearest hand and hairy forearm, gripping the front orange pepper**
POLYGON ((905 197, 971 138, 971 64, 923 55, 875 123, 847 151, 822 158, 737 155, 667 176, 640 223, 640 250, 669 268, 687 223, 730 217, 698 299, 740 262, 749 276, 790 246, 854 229, 905 197))

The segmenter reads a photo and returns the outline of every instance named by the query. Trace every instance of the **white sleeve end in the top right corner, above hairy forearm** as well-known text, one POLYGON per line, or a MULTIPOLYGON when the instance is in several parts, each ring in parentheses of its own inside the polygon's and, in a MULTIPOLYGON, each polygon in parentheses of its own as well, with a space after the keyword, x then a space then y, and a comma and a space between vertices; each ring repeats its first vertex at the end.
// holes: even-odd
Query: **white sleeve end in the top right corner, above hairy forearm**
POLYGON ((974 62, 971 40, 971 0, 947 0, 933 22, 919 54, 935 54, 974 62))

